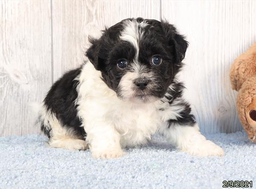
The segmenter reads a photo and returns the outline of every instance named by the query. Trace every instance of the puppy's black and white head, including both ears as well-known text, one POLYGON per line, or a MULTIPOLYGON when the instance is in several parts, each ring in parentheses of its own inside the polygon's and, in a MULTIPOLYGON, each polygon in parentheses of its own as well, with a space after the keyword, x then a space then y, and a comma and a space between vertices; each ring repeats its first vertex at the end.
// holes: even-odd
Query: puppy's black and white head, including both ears
POLYGON ((86 55, 122 100, 152 102, 166 93, 188 43, 166 21, 125 19, 103 31, 86 55))

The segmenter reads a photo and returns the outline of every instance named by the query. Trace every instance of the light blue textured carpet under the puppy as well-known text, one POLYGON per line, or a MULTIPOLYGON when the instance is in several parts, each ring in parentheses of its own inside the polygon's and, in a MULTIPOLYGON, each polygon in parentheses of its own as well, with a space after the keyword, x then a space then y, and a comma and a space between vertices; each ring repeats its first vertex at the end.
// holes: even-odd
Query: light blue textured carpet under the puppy
POLYGON ((0 188, 205 189, 221 188, 223 180, 253 180, 256 188, 256 144, 244 132, 207 138, 223 147, 225 157, 192 157, 160 136, 113 160, 94 160, 89 150, 49 148, 43 135, 1 137, 0 188))

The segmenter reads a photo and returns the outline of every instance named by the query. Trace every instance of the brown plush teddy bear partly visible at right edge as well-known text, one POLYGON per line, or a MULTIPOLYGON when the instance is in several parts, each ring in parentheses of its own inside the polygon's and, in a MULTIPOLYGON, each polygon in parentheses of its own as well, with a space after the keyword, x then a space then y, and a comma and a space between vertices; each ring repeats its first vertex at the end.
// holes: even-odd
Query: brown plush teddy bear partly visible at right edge
POLYGON ((256 142, 256 43, 236 58, 230 70, 232 89, 240 121, 248 138, 256 142))

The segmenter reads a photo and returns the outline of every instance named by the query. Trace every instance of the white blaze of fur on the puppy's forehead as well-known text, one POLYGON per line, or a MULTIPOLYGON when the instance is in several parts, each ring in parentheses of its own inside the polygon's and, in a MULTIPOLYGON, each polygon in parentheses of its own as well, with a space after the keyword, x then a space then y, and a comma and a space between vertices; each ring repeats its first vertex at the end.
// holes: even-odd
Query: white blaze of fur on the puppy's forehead
POLYGON ((136 20, 125 20, 124 29, 121 31, 120 39, 130 42, 136 49, 136 59, 139 55, 139 41, 143 35, 142 28, 148 24, 145 21, 138 23, 136 20))

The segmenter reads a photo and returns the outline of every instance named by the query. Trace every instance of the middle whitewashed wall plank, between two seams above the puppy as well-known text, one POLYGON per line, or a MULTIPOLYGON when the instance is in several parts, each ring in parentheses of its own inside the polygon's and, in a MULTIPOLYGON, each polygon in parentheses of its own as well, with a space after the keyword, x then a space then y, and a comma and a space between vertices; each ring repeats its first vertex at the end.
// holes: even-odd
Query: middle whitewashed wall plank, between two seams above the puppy
POLYGON ((160 18, 160 1, 93 0, 52 1, 54 80, 84 60, 89 34, 128 17, 160 18))

